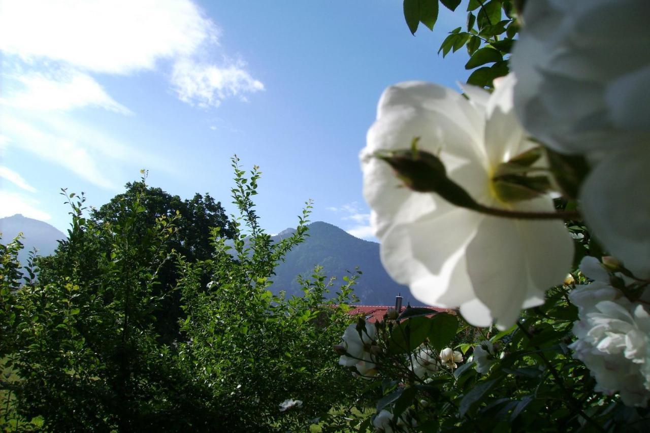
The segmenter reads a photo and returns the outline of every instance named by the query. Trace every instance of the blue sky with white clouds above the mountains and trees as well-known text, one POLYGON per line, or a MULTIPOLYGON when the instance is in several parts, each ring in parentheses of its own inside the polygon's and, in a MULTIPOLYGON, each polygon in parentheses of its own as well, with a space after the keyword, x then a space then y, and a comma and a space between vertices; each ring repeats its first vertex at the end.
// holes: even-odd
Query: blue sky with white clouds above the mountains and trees
POLYGON ((414 37, 401 1, 0 0, 0 217, 66 230, 60 188, 99 206, 140 168, 231 213, 236 153, 261 166, 268 232, 311 198, 311 220, 372 239, 357 155, 376 104, 465 81, 464 50, 436 53, 461 10, 414 37))

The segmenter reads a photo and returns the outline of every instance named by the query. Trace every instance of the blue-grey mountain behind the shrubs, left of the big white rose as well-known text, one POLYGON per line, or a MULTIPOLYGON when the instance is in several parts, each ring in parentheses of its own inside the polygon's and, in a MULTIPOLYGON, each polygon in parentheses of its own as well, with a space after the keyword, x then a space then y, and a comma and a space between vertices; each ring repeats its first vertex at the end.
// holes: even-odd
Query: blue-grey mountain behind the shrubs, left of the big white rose
MULTIPOLYGON (((293 231, 281 231, 272 239, 279 241, 290 236, 293 231)), ((422 305, 410 297, 408 287, 394 282, 383 269, 378 243, 354 237, 326 222, 309 224, 307 233, 309 236, 304 243, 295 246, 285 257, 285 262, 279 263, 276 276, 272 278, 272 291, 284 290, 287 295, 302 295, 296 276, 311 276, 315 265, 322 266, 328 278, 336 277, 335 289, 343 283, 343 276, 349 276, 350 272, 354 273, 355 268, 359 267, 363 274, 354 286, 354 293, 361 299, 361 304, 393 305, 395 296, 402 293, 405 305, 407 302, 412 306, 422 305)))

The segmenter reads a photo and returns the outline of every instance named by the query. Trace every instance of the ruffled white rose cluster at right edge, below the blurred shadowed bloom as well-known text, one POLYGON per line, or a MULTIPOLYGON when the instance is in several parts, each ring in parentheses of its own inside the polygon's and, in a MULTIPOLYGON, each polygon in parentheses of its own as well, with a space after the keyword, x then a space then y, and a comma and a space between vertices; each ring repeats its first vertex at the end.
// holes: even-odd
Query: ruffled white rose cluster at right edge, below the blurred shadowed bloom
POLYGON ((593 257, 583 259, 582 273, 595 280, 569 294, 578 307, 573 326, 578 337, 569 347, 595 377, 596 391, 619 393, 627 406, 650 399, 650 315, 609 283, 609 274, 593 257))

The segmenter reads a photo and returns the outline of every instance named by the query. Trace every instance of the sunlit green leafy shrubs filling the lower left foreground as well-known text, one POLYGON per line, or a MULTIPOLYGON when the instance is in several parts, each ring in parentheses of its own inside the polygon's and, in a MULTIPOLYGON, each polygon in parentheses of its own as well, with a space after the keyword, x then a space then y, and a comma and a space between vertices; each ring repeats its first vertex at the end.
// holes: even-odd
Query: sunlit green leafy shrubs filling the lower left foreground
POLYGON ((3 369, 16 373, 1 382, 3 417, 17 426, 39 419, 45 431, 285 431, 313 422, 327 430, 346 423, 356 391, 330 348, 349 321, 356 277, 330 301, 324 296, 333 283, 318 269, 301 279, 304 296, 271 295, 269 278, 304 239, 311 203, 294 235, 272 243, 252 201, 259 169, 246 177, 237 159, 233 167, 241 215, 232 217, 232 246, 212 228, 209 258, 168 248, 187 222, 180 213, 148 219, 144 187, 101 220, 86 218, 83 196, 68 194, 69 239, 54 259, 65 269, 45 269, 41 282, 19 288, 20 244, 3 246, 3 369), (159 285, 170 262, 183 317, 179 338, 168 343, 156 313, 166 308, 159 285), (280 411, 287 399, 304 404, 280 411))

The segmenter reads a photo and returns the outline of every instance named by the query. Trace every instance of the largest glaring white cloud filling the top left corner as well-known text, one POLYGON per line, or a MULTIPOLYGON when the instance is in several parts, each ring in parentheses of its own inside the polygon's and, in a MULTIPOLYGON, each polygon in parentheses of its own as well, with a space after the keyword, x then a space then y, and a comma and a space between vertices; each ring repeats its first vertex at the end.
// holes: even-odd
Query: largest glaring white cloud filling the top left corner
POLYGON ((2 51, 92 72, 152 70, 218 35, 188 0, 2 0, 0 10, 2 51))

